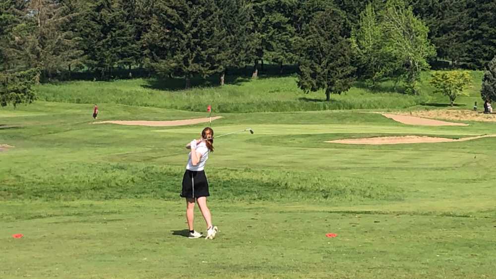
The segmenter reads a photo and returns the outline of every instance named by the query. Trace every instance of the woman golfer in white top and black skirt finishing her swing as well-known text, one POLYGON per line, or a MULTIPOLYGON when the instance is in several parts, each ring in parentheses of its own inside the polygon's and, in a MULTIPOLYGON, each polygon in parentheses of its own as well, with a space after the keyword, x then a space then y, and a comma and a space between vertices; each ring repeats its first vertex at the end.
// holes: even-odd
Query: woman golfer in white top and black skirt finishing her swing
POLYGON ((208 160, 208 153, 214 151, 214 131, 207 127, 201 131, 201 139, 193 139, 186 145, 191 149, 188 154, 186 172, 183 176, 183 191, 181 197, 186 198, 186 220, 189 227, 189 238, 199 238, 202 233, 193 228, 194 204, 198 203, 201 214, 207 223, 206 239, 213 239, 218 229, 212 225, 212 217, 207 207, 208 181, 205 176, 205 162, 208 160))

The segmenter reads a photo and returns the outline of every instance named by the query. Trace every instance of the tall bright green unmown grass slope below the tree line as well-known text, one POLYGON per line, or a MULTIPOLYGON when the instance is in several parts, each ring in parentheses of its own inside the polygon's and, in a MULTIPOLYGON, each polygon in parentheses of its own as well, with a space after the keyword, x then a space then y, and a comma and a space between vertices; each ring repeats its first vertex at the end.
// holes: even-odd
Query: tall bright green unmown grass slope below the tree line
POLYGON ((292 76, 237 80, 223 87, 190 90, 175 90, 156 79, 73 81, 44 84, 38 86, 37 91, 41 100, 50 102, 113 103, 197 112, 206 111, 211 104, 217 113, 406 108, 429 102, 424 95, 409 96, 393 91, 371 93, 357 87, 342 95, 332 95, 331 102, 325 102, 323 92, 303 93, 292 76))

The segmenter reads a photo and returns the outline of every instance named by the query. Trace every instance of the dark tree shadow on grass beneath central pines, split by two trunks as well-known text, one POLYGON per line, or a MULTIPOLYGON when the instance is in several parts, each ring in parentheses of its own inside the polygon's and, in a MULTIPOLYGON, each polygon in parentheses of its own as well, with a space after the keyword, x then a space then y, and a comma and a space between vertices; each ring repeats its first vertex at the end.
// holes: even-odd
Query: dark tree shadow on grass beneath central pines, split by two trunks
MULTIPOLYGON (((224 80, 224 84, 230 85, 240 85, 243 82, 248 81, 246 77, 240 77, 236 75, 227 75, 224 80)), ((182 77, 171 78, 150 78, 146 80, 147 84, 142 85, 144 88, 167 90, 167 91, 180 91, 185 90, 186 80, 182 77)), ((209 87, 220 87, 220 77, 218 75, 210 76, 208 78, 202 78, 201 76, 195 76, 190 80, 190 88, 209 88, 209 87)))

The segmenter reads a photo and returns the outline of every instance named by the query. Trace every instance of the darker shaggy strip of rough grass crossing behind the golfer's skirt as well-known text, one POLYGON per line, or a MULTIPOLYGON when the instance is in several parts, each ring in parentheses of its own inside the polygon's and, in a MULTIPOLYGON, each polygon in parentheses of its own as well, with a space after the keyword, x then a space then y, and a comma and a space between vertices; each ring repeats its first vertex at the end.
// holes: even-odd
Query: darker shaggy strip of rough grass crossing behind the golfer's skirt
MULTIPOLYGON (((146 164, 69 163, 50 172, 18 170, 4 177, 0 200, 178 200, 184 167, 146 164)), ((402 191, 359 177, 261 169, 211 168, 211 194, 235 201, 401 200, 402 191)))

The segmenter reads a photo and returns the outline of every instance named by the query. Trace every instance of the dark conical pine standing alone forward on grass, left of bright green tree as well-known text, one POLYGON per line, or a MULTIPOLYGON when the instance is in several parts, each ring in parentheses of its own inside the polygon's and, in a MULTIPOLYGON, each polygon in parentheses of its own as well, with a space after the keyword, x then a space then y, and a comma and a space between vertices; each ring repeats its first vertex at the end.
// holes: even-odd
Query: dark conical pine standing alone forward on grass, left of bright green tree
POLYGON ((355 68, 351 66, 351 42, 344 14, 332 7, 312 14, 302 28, 301 74, 298 86, 304 91, 325 89, 331 93, 350 89, 355 68))

